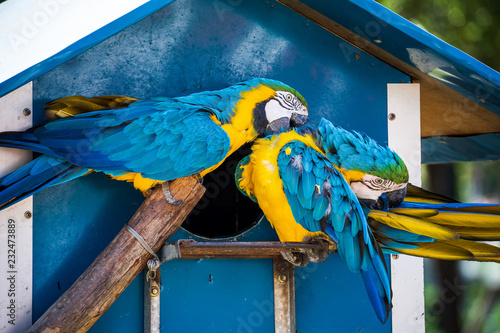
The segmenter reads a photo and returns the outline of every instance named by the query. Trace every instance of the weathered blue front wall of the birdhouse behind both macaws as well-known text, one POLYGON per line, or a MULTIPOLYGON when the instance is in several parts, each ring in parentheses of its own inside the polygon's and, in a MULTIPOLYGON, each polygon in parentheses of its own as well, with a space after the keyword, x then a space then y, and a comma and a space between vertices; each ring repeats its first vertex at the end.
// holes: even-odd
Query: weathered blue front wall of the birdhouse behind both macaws
MULTIPOLYGON (((308 101, 311 123, 327 117, 381 143, 387 142, 386 85, 409 82, 278 3, 178 0, 36 79, 34 116, 42 122, 43 104, 66 95, 179 96, 250 77, 295 87, 308 101)), ((92 175, 43 191, 34 200, 36 319, 128 221, 142 195, 128 184, 92 175)), ((186 237, 193 236, 180 230, 172 239, 186 237)), ((263 224, 237 239, 276 235, 263 224)), ((272 293, 271 267, 268 259, 163 265, 162 330, 272 332, 265 307, 272 293)), ((299 332, 391 331, 390 321, 378 322, 361 279, 337 255, 296 274, 299 332)), ((91 332, 140 327, 142 277, 91 332)))

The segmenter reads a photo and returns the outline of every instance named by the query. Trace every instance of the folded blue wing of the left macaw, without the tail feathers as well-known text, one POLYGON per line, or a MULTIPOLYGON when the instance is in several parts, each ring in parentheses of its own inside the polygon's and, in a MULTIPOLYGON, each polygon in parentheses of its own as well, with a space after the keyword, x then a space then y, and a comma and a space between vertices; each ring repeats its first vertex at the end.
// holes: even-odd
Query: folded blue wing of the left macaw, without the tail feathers
POLYGON ((171 180, 226 157, 229 136, 210 119, 211 114, 171 99, 156 104, 146 100, 127 109, 54 121, 35 130, 35 135, 53 156, 80 167, 171 180))

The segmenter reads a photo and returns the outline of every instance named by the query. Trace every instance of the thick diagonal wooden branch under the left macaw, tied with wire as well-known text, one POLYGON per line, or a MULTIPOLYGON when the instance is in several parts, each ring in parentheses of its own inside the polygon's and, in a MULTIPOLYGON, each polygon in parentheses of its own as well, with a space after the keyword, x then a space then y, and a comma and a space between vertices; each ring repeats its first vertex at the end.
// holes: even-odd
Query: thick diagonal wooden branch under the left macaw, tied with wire
MULTIPOLYGON (((156 252, 179 228, 205 188, 193 177, 170 183, 174 206, 156 188, 128 222, 156 252)), ((92 265, 40 317, 28 332, 87 332, 151 258, 124 227, 92 265)))

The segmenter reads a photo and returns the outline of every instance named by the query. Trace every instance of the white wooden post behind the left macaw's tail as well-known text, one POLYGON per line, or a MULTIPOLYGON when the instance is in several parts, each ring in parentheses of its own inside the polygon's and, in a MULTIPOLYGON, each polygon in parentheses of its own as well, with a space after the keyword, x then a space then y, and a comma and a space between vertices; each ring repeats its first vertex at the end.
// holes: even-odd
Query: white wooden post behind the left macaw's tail
MULTIPOLYGON (((32 126, 32 83, 0 98, 0 132, 32 126)), ((0 177, 29 162, 32 153, 0 148, 0 177)), ((0 332, 31 326, 33 201, 27 198, 0 211, 0 332)))

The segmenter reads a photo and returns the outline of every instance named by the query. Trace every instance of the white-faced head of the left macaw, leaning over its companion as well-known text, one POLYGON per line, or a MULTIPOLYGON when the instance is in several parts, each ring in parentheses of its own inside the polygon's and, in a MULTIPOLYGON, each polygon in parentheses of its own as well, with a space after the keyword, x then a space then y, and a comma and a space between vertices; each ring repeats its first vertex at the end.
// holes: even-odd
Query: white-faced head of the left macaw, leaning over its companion
POLYGON ((251 117, 258 135, 289 131, 308 119, 307 103, 295 89, 276 80, 251 79, 240 83, 247 89, 235 105, 233 125, 242 126, 251 117))

